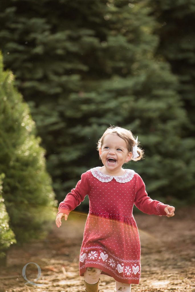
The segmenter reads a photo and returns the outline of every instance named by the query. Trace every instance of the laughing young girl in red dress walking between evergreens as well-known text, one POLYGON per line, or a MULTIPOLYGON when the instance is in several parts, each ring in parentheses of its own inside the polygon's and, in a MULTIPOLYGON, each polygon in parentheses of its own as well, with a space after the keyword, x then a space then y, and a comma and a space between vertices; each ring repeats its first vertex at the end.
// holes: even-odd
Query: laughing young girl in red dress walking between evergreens
POLYGON ((80 276, 84 276, 86 292, 98 292, 100 274, 115 279, 116 292, 130 292, 131 283, 139 284, 140 238, 132 214, 133 204, 142 212, 174 216, 175 208, 148 197, 139 174, 122 168, 130 160, 140 160, 143 150, 137 147, 131 131, 109 127, 98 141, 102 167, 81 175, 76 187, 59 205, 56 225, 67 220, 85 196, 89 197, 80 252, 80 276))

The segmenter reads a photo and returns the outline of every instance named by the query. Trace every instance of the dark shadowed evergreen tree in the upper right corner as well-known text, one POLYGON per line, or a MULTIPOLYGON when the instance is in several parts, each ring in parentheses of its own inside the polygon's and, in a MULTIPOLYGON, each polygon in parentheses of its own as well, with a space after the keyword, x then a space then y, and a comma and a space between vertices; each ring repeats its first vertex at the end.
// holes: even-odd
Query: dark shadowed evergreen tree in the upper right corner
POLYGON ((181 0, 175 3, 149 0, 149 6, 152 8, 151 15, 158 22, 154 31, 160 39, 156 56, 167 60, 172 72, 178 77, 177 92, 181 95, 190 118, 185 136, 194 135, 195 1, 181 0))

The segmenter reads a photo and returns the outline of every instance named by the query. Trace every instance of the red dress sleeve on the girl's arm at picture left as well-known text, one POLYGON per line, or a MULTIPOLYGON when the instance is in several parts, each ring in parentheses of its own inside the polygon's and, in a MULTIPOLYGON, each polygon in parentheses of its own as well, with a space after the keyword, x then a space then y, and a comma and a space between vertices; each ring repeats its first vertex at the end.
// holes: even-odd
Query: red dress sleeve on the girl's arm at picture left
POLYGON ((81 175, 81 179, 76 184, 76 187, 72 189, 71 192, 66 195, 64 201, 59 204, 58 213, 65 213, 69 215, 72 210, 81 204, 89 192, 90 185, 88 174, 85 172, 81 175))

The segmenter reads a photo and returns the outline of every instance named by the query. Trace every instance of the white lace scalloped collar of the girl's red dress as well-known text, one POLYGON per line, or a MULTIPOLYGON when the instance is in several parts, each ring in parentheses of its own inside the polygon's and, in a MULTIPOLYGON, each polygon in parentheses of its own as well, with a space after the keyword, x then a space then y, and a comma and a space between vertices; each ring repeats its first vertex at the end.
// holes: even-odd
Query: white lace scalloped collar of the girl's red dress
POLYGON ((112 176, 112 175, 107 175, 107 174, 104 174, 100 171, 100 166, 97 166, 97 167, 94 167, 94 168, 91 168, 90 169, 91 173, 93 174, 93 176, 95 178, 97 178, 98 180, 100 180, 100 182, 102 183, 108 183, 110 182, 113 178, 115 178, 115 180, 118 182, 118 183, 127 183, 129 182, 130 180, 132 180, 134 174, 135 174, 135 171, 132 170, 132 169, 126 169, 125 170, 125 173, 123 175, 120 175, 120 176, 112 176))

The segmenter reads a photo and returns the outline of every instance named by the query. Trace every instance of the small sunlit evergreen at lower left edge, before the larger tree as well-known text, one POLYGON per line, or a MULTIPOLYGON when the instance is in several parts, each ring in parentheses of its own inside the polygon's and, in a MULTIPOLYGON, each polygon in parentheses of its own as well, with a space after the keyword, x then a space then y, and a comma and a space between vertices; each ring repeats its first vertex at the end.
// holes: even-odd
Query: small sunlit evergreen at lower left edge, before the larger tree
POLYGON ((6 265, 6 256, 9 246, 16 242, 15 235, 9 227, 9 216, 6 211, 4 199, 2 197, 2 180, 4 175, 0 175, 0 266, 6 265))

